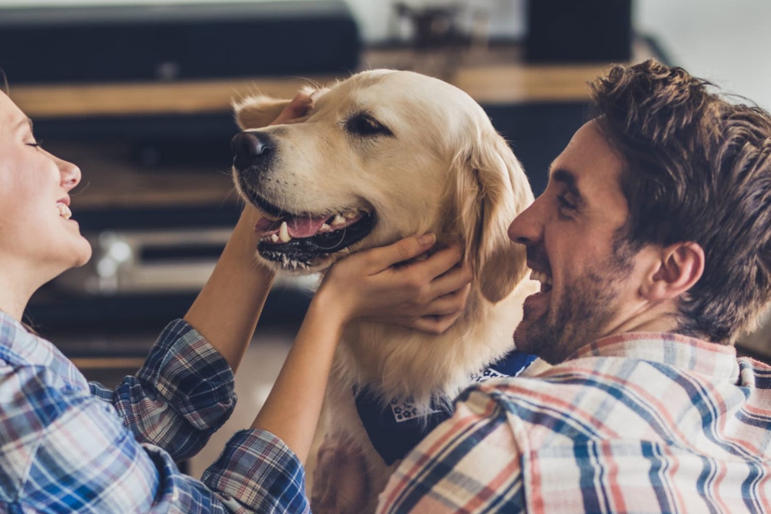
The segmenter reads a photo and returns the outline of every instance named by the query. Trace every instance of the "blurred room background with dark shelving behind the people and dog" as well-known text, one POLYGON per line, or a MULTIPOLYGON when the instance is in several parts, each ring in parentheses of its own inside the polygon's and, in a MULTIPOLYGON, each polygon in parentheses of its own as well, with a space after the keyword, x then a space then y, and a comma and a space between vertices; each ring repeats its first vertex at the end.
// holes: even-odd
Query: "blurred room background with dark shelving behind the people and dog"
MULTIPOLYGON (((233 98, 368 68, 437 76, 485 107, 540 193, 609 62, 655 57, 771 109, 769 24, 768 0, 0 0, 0 69, 46 149, 81 167, 72 212, 95 250, 29 322, 89 378, 136 370, 237 220, 233 98)), ((251 423, 314 285, 271 292, 236 412, 184 464, 194 475, 251 423)), ((769 331, 741 351, 771 360, 769 331)))

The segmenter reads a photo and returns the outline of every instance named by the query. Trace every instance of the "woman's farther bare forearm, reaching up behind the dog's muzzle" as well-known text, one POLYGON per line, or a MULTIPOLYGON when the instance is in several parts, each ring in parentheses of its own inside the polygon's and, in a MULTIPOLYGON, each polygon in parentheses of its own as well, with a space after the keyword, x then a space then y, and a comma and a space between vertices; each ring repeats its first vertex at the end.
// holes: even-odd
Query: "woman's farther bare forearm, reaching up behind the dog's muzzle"
POLYGON ((184 320, 236 371, 268 297, 273 272, 254 257, 255 211, 244 210, 220 260, 184 320))

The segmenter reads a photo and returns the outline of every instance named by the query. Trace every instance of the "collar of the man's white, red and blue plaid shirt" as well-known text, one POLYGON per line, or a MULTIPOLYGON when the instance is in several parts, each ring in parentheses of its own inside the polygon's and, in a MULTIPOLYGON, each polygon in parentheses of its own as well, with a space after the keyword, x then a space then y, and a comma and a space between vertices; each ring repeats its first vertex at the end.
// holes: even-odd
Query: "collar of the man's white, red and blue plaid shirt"
POLYGON ((672 332, 629 332, 587 344, 567 360, 585 357, 624 357, 660 362, 715 378, 739 379, 736 348, 672 332))

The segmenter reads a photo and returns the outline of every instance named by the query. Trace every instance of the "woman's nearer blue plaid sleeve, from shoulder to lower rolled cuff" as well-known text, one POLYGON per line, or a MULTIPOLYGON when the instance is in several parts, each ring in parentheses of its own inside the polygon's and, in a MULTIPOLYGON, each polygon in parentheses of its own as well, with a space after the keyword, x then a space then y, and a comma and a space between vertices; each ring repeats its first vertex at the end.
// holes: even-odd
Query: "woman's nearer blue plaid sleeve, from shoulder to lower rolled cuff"
POLYGON ((112 405, 56 382, 32 367, 5 381, 18 393, 0 416, 0 512, 309 512, 302 466, 274 435, 238 432, 201 481, 112 405))

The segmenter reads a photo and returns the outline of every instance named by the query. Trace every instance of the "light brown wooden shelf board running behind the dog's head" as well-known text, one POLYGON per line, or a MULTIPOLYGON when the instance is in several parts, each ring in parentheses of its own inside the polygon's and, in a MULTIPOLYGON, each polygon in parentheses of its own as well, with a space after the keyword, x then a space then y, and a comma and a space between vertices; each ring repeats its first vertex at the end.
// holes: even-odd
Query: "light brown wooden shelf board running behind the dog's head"
MULTIPOLYGON (((532 66, 522 62, 520 47, 446 49, 370 49, 362 69, 412 69, 436 76, 465 90, 480 103, 576 100, 588 97, 586 82, 604 65, 532 66)), ((635 45, 635 59, 653 55, 645 42, 635 45)), ((179 82, 131 82, 13 86, 12 98, 32 119, 62 116, 159 115, 221 113, 231 100, 254 93, 291 98, 308 83, 327 84, 345 75, 253 77, 179 82)))

